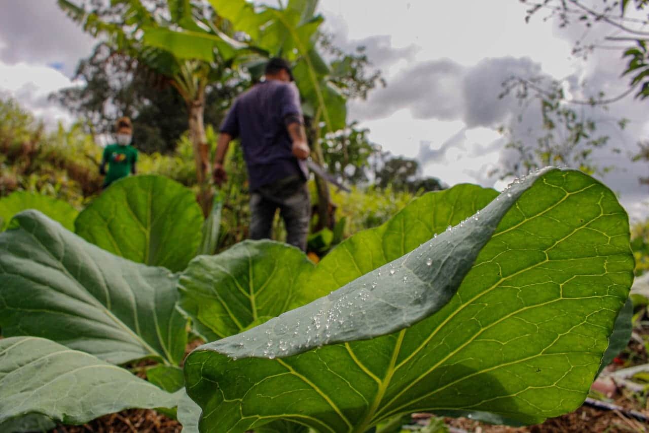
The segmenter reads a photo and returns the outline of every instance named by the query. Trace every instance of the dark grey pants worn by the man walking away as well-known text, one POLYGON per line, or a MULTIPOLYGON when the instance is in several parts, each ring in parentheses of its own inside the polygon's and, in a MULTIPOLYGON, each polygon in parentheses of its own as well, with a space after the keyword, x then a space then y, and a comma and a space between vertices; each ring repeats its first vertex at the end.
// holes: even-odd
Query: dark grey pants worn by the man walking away
POLYGON ((270 239, 277 209, 286 226, 286 243, 306 251, 311 199, 302 177, 286 177, 252 192, 250 239, 270 239))

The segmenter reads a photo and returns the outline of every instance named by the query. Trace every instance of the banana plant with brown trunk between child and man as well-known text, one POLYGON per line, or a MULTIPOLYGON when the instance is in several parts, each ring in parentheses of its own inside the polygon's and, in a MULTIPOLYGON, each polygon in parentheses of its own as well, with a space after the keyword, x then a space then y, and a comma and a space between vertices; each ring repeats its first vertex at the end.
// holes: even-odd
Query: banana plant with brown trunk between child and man
POLYGON ((190 0, 162 1, 167 14, 141 0, 114 0, 110 9, 86 10, 71 0, 58 0, 66 14, 95 37, 108 39, 114 51, 138 60, 147 73, 173 86, 188 108, 188 126, 195 153, 199 203, 211 209, 209 148, 203 124, 205 91, 210 83, 230 79, 230 66, 244 44, 219 29, 219 18, 190 0), (108 11, 108 12, 107 12, 108 11), (209 37, 206 37, 209 36, 209 37))

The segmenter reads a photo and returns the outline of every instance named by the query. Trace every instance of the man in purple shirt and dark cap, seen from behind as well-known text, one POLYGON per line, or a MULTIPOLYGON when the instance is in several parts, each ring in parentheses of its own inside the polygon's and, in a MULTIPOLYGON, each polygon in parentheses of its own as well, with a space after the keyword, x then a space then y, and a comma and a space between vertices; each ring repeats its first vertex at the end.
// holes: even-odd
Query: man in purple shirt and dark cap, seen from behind
POLYGON ((235 138, 241 140, 251 190, 250 238, 270 238, 280 209, 286 242, 306 250, 311 200, 305 160, 310 150, 300 94, 286 60, 269 60, 265 81, 234 101, 219 133, 214 158, 214 181, 219 186, 227 180, 223 160, 228 145, 235 138))

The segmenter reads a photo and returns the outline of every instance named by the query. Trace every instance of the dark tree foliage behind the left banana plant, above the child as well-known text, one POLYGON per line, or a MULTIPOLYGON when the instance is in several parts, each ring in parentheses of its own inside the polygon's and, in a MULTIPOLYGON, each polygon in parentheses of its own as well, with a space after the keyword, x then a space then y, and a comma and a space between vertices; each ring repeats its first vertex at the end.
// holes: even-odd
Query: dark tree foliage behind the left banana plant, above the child
MULTIPOLYGON (((90 57, 80 60, 77 76, 82 79, 82 86, 60 90, 51 99, 85 119, 89 133, 112 134, 117 117, 129 116, 138 150, 173 153, 187 129, 188 111, 185 101, 167 80, 152 77, 137 59, 115 52, 104 43, 97 45, 90 57), (104 103, 107 99, 112 101, 110 107, 104 103)), ((206 124, 220 124, 224 109, 244 86, 247 81, 234 72, 227 81, 207 86, 206 124)), ((188 161, 193 162, 191 158, 188 161)), ((195 183, 195 168, 193 173, 195 183)))

